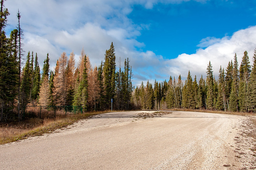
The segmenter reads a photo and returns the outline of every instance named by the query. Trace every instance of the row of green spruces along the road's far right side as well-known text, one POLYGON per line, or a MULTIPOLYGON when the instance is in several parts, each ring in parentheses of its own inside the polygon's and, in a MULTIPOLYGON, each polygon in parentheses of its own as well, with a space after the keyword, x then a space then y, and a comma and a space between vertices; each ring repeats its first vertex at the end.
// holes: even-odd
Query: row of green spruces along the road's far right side
POLYGON ((242 56, 240 66, 237 56, 229 61, 226 70, 219 69, 219 77, 213 76, 212 64, 207 66, 206 79, 192 79, 190 71, 183 84, 181 75, 176 80, 153 84, 144 83, 136 87, 132 103, 138 109, 207 109, 223 111, 256 112, 256 49, 250 65, 247 51, 242 56))

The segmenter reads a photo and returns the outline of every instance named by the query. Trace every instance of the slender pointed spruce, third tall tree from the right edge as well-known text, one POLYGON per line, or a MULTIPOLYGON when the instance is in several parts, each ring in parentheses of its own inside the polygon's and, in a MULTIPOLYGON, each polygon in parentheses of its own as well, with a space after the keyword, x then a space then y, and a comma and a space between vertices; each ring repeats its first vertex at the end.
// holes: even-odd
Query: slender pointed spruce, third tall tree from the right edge
POLYGON ((229 98, 229 110, 230 111, 238 111, 239 110, 239 94, 238 94, 238 61, 236 54, 234 56, 234 65, 233 65, 233 81, 232 81, 232 87, 230 92, 230 98, 229 98))

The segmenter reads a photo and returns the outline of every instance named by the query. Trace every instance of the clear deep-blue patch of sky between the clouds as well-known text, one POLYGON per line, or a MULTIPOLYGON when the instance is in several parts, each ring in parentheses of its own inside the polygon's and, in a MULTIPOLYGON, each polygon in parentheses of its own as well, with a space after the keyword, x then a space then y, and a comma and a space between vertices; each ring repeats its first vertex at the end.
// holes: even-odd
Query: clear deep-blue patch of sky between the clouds
POLYGON ((255 25, 256 11, 252 6, 256 7, 256 1, 188 1, 157 4, 153 9, 135 5, 128 17, 134 23, 149 25, 137 38, 145 43, 143 49, 170 59, 182 53, 196 53, 203 38, 231 36, 255 25))

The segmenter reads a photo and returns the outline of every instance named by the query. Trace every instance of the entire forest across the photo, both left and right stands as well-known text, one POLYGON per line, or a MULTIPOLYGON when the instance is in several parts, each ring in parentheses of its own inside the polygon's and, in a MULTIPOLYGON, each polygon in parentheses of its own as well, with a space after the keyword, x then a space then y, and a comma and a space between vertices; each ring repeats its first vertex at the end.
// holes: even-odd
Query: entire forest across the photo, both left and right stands
POLYGON ((206 78, 201 75, 197 79, 188 71, 185 82, 181 75, 170 76, 168 81, 142 82, 135 88, 130 61, 125 59, 123 68, 121 61, 116 65, 113 43, 98 67, 93 68, 89 56, 81 50, 79 61, 75 61, 73 52, 69 56, 63 52, 54 70, 50 70, 50 55, 46 54, 40 68, 38 57, 44 56, 33 51, 23 54, 19 11, 17 29, 7 37, 9 15, 1 0, 0 121, 20 121, 27 105, 73 105, 82 106, 84 111, 96 111, 110 109, 111 100, 114 110, 186 108, 256 112, 256 49, 251 65, 247 51, 240 65, 235 54, 225 70, 220 66, 217 79, 209 62, 206 78))

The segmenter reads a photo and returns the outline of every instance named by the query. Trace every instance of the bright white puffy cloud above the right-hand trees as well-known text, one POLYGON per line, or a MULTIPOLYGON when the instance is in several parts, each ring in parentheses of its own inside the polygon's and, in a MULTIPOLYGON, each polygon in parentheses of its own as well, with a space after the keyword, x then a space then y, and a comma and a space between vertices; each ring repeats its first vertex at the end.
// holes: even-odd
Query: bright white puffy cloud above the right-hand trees
MULTIPOLYGON (((183 78, 187 77, 188 70, 191 75, 206 76, 206 68, 209 63, 213 65, 213 72, 218 78, 220 66, 226 68, 228 62, 233 60, 235 53, 238 56, 238 62, 244 51, 249 54, 250 60, 256 47, 256 26, 242 29, 235 32, 230 38, 224 37, 214 43, 210 43, 206 49, 198 49, 195 54, 181 54, 177 58, 165 61, 165 70, 170 75, 177 76, 181 74, 183 78)), ((205 42, 205 39, 203 40, 205 42)))

